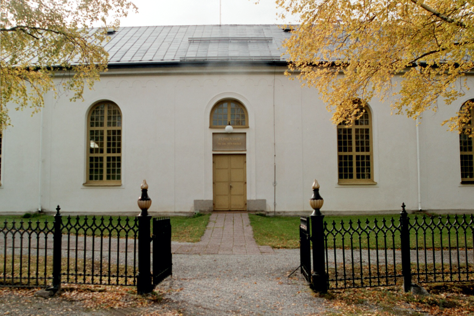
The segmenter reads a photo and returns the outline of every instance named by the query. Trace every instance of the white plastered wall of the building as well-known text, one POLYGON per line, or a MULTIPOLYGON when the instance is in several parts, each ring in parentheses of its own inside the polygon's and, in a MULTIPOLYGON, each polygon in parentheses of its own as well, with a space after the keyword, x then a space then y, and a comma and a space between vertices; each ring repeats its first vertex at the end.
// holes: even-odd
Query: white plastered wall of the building
MULTIPOLYGON (((390 115, 387 103, 370 102, 374 185, 337 184, 337 132, 314 88, 301 88, 283 68, 110 71, 84 101, 46 96, 42 114, 10 110, 3 135, 0 212, 52 211, 138 214, 146 179, 150 211, 189 213, 194 200, 212 199, 210 110, 221 99, 248 111, 247 199, 265 199, 267 211, 309 214, 317 178, 323 211, 399 212, 418 208, 416 122, 390 115), (111 100, 123 115, 122 185, 83 186, 87 113, 111 100), (39 137, 42 152, 39 153, 39 137), (41 163, 40 163, 41 160, 41 163), (41 172, 40 172, 41 165, 41 172), (276 172, 276 173, 275 173, 276 172), (41 177, 41 181, 39 180, 41 177), (276 186, 273 183, 276 180, 276 186), (41 187, 41 189, 40 189, 41 187), (41 193, 40 193, 41 192, 41 193)), ((440 123, 474 95, 424 114, 420 130, 422 207, 474 209, 474 186, 460 184, 458 135, 440 123)), ((235 130, 237 132, 237 130, 235 130)))

